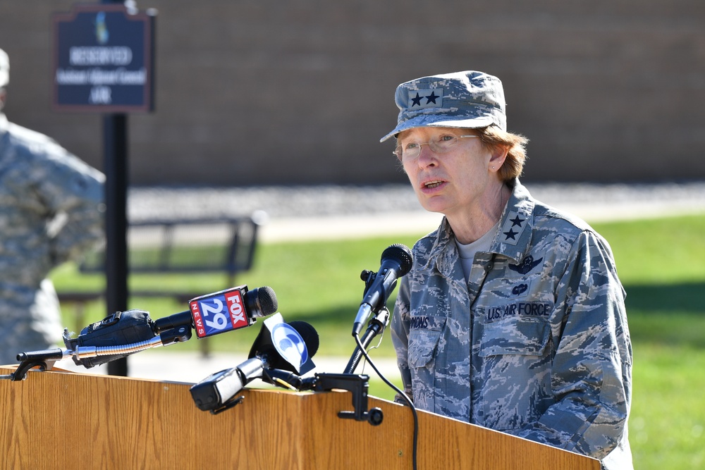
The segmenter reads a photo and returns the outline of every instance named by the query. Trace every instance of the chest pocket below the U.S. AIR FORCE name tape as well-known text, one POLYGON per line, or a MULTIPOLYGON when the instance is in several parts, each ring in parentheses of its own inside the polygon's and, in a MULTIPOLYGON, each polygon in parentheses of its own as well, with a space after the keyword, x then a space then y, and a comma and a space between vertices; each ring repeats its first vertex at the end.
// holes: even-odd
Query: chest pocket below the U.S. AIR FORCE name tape
POLYGON ((513 318, 484 326, 479 356, 542 356, 551 342, 551 326, 543 319, 513 318))

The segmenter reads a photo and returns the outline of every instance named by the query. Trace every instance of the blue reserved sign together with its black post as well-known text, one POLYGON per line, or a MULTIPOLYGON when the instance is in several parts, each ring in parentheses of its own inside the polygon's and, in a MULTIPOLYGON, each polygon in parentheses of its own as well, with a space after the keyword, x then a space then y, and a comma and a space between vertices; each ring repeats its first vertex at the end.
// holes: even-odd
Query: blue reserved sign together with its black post
MULTIPOLYGON (((155 16, 103 0, 53 17, 54 109, 103 113, 107 314, 128 308, 126 113, 154 109, 155 16)), ((108 373, 127 376, 127 359, 108 373)))

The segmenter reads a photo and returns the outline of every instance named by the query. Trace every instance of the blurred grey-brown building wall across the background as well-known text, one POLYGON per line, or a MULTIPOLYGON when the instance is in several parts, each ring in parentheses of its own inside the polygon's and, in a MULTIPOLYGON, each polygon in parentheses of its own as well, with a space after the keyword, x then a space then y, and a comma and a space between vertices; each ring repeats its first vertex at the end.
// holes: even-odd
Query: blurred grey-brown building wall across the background
MULTIPOLYGON (((102 121, 51 111, 51 13, 0 3, 8 118, 98 168, 102 121)), ((398 83, 500 77, 525 180, 705 179, 703 0, 140 1, 157 17, 156 111, 131 114, 135 185, 401 182, 398 83)))

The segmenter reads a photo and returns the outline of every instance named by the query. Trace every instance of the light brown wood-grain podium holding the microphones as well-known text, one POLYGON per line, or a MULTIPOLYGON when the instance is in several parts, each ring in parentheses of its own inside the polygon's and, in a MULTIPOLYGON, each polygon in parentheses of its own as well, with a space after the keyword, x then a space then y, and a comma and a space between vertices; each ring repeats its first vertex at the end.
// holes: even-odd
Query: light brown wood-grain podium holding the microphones
MULTIPOLYGON (((0 374, 14 371, 0 366, 0 374)), ((190 383, 30 371, 0 380, 3 469, 412 469, 408 407, 369 397, 384 421, 340 419, 350 392, 243 390, 220 414, 190 383)), ((595 459, 418 412, 418 470, 599 470, 595 459)))

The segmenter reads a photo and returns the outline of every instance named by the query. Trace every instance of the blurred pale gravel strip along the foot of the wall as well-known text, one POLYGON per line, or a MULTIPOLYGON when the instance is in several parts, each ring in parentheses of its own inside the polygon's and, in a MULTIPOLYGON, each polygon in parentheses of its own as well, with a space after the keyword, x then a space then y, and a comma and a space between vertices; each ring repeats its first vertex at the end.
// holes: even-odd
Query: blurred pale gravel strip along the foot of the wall
MULTIPOLYGON (((662 184, 527 184, 534 197, 561 204, 690 204, 705 206, 705 182, 662 184)), ((410 185, 133 187, 128 218, 242 216, 265 211, 271 218, 353 216, 423 211, 410 185)))

